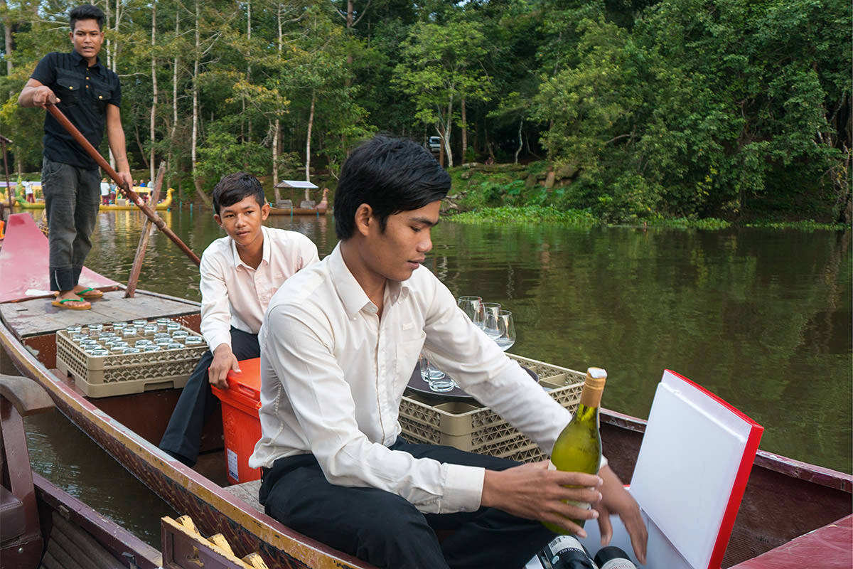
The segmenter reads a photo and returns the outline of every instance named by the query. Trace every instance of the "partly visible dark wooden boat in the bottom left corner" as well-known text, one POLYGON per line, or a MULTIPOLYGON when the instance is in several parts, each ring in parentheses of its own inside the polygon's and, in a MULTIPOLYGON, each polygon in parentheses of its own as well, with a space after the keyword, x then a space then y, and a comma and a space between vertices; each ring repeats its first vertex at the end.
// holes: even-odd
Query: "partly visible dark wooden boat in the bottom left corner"
POLYGON ((49 480, 33 473, 24 416, 54 408, 44 388, 0 374, 0 566, 12 569, 266 569, 258 554, 235 556, 229 543, 200 535, 189 516, 160 521, 163 554, 49 480), (87 562, 84 564, 84 560, 87 562))

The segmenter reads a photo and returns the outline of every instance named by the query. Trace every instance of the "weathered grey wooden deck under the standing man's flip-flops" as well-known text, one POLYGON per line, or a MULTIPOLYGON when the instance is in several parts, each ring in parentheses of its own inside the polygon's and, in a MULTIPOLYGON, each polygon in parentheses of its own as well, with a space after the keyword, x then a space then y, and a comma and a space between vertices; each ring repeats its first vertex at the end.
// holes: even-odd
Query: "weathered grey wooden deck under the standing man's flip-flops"
POLYGON ((136 293, 125 299, 125 291, 108 291, 102 299, 92 300, 87 311, 73 311, 51 304, 52 298, 22 300, 0 304, 0 317, 20 338, 54 334, 74 324, 103 324, 130 321, 137 318, 189 316, 199 311, 199 305, 150 293, 136 293))

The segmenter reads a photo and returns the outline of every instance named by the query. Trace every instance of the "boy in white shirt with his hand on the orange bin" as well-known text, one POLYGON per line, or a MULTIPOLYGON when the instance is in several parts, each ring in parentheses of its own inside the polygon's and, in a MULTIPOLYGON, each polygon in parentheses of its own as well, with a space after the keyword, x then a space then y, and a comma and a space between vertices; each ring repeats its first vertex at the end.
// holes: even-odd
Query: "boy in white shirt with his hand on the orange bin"
POLYGON ((213 189, 213 210, 226 237, 201 255, 201 357, 171 414, 160 448, 188 466, 199 456, 201 429, 214 409, 207 386, 228 387, 238 360, 258 357, 258 329, 273 293, 298 270, 320 259, 316 245, 296 231, 264 227, 270 215, 258 178, 223 176, 213 189))

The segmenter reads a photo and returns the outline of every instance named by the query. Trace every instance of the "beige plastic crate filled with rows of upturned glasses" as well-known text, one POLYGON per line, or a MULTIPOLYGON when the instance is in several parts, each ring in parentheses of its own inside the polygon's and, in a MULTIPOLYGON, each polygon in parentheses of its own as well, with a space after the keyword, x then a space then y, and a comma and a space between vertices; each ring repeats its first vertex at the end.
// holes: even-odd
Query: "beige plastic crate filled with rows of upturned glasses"
MULTIPOLYGON (((199 335, 190 328, 182 326, 181 329, 199 335)), ((142 337, 128 340, 133 342, 142 337)), ((96 357, 74 344, 66 330, 56 332, 56 367, 63 374, 71 375, 78 388, 91 398, 183 387, 206 350, 207 345, 202 343, 171 350, 96 357)))

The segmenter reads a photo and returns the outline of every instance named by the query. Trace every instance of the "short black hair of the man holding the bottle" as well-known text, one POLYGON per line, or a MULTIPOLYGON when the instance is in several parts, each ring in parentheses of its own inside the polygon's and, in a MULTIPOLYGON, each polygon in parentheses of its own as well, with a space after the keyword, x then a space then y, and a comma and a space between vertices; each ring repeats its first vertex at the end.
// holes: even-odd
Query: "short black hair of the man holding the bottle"
POLYGON ((409 140, 377 135, 352 151, 334 190, 334 232, 345 241, 356 229, 356 210, 373 209, 384 231, 389 216, 442 200, 450 174, 427 148, 409 140))

